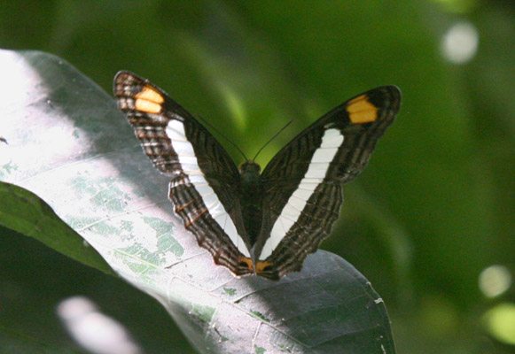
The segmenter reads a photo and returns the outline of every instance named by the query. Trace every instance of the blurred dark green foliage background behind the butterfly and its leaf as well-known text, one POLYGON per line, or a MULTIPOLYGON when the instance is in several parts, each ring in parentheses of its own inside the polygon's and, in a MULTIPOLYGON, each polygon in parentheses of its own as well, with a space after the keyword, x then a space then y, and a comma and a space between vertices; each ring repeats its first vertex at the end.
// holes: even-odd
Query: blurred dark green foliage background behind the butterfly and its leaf
MULTIPOLYGON (((348 97, 399 86, 401 113, 347 186, 323 248, 383 296, 399 353, 494 353, 514 344, 481 318, 515 292, 511 285, 487 298, 478 277, 492 265, 515 269, 514 14, 510 1, 2 0, 0 47, 59 55, 108 91, 118 70, 143 75, 247 156, 294 119, 261 165, 348 97), (479 46, 455 64, 441 43, 460 21, 475 28, 479 46)), ((0 307, 0 326, 66 342, 59 324, 47 325, 57 323, 51 306, 80 291, 126 323, 146 352, 191 352, 150 297, 0 234, 0 300, 11 305, 0 307), (51 284, 41 281, 49 276, 51 284)))

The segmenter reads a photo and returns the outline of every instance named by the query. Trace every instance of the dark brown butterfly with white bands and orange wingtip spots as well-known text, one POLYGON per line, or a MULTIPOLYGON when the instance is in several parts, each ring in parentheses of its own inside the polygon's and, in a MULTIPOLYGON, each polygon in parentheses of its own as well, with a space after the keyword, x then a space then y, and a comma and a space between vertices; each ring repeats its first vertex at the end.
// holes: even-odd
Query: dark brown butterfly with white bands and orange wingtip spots
POLYGON ((334 108, 289 142, 260 174, 239 166, 205 127, 163 90, 129 72, 114 95, 145 154, 171 178, 176 214, 218 265, 278 280, 300 271, 331 233, 342 184, 363 171, 401 104, 394 86, 334 108))

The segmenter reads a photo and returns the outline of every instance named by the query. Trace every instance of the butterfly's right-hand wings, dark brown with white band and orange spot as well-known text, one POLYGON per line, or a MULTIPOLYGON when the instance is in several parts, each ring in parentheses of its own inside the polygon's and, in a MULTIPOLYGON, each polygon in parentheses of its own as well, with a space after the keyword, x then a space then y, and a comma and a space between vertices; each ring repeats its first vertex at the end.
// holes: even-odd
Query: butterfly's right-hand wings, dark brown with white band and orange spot
POLYGON ((396 87, 371 89, 316 120, 272 158, 262 173, 259 275, 277 280, 299 271, 331 233, 343 203, 342 184, 363 171, 400 104, 396 87))

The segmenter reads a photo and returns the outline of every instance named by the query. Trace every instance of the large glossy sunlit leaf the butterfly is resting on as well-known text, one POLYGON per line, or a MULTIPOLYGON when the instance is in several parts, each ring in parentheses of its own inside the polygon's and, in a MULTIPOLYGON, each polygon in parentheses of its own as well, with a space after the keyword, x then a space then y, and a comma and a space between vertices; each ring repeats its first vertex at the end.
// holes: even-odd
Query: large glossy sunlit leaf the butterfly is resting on
MULTIPOLYGON (((382 299, 345 260, 318 251, 282 281, 233 277, 176 219, 168 179, 111 96, 48 54, 3 50, 0 61, 12 83, 1 95, 0 179, 50 204, 116 273, 157 298, 199 352, 394 353, 382 299)), ((103 269, 65 226, 52 231, 59 222, 43 201, 1 188, 1 225, 103 269)))

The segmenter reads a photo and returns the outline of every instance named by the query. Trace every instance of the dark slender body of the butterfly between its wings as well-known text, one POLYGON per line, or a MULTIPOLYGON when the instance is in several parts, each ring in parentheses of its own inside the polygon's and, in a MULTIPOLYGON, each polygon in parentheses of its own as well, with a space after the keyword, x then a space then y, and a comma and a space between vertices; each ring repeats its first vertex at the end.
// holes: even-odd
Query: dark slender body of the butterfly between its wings
POLYGON ((243 221, 250 242, 254 245, 260 233, 262 222, 262 182, 261 167, 254 161, 248 160, 239 165, 241 176, 241 209, 243 221))

